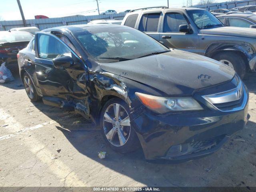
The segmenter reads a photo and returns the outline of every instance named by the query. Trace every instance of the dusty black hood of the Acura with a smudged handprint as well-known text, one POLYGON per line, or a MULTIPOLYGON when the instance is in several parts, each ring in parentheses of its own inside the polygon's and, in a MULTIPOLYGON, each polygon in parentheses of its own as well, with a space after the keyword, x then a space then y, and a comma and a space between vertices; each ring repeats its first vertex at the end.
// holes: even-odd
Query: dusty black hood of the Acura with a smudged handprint
POLYGON ((235 74, 220 62, 180 50, 99 65, 106 72, 146 84, 168 95, 191 95, 194 90, 230 81, 235 74))

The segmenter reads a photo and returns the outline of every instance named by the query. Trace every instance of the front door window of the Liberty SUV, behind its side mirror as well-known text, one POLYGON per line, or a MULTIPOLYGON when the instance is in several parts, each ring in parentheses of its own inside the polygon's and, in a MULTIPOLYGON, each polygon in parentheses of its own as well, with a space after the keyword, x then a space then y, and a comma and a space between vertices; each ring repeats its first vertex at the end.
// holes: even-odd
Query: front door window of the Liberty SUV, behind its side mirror
POLYGON ((180 25, 188 25, 183 14, 168 13, 164 17, 164 32, 179 32, 180 25))

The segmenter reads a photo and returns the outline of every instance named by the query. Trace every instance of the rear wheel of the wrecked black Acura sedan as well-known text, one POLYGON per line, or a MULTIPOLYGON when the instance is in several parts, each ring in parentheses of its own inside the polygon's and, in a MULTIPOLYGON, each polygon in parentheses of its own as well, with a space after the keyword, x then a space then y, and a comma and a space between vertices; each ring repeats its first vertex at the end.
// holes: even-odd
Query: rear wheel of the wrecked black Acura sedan
POLYGON ((36 88, 34 87, 34 84, 30 78, 30 76, 25 73, 23 76, 23 83, 25 86, 26 93, 28 95, 28 98, 30 98, 31 101, 38 101, 40 97, 38 96, 36 92, 36 88))

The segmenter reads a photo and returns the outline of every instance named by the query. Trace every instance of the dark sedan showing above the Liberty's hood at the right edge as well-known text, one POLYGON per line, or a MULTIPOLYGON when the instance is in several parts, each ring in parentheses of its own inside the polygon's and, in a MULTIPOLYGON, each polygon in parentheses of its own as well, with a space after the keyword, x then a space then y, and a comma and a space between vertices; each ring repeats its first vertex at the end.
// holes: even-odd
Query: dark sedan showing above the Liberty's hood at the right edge
POLYGON ((255 14, 231 14, 216 17, 226 26, 256 28, 255 14))

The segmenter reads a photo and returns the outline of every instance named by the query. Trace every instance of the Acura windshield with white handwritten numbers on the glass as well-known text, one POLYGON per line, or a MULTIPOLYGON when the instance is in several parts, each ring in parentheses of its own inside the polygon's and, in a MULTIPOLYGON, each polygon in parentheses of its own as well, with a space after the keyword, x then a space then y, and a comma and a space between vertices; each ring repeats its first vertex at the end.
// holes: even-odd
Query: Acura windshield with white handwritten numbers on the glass
POLYGON ((129 27, 110 27, 75 33, 92 58, 99 62, 131 60, 170 51, 148 35, 129 27))

